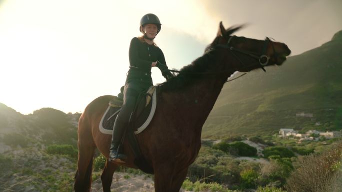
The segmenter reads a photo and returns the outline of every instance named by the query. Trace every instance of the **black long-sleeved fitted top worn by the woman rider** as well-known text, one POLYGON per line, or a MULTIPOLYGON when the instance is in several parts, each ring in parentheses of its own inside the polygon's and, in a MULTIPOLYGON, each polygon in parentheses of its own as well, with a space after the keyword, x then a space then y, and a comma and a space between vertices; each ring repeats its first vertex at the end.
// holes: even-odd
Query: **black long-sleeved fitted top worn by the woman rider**
POLYGON ((140 81, 152 85, 151 63, 157 60, 166 65, 164 54, 159 47, 133 37, 129 44, 129 70, 125 84, 140 81))

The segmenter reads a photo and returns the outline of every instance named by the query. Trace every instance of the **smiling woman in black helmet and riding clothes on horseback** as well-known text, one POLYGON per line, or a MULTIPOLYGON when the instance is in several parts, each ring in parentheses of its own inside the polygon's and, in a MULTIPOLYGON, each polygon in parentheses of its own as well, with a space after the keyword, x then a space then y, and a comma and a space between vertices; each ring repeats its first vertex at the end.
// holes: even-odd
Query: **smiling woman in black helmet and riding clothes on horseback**
POLYGON ((123 105, 116 116, 110 145, 110 161, 124 162, 127 157, 118 150, 124 129, 128 125, 129 116, 140 92, 153 85, 151 67, 158 67, 168 80, 173 75, 167 70, 164 54, 153 39, 161 29, 159 18, 155 14, 145 14, 140 20, 140 37, 133 37, 129 45, 129 70, 123 91, 123 105), (160 61, 160 62, 159 62, 160 61))

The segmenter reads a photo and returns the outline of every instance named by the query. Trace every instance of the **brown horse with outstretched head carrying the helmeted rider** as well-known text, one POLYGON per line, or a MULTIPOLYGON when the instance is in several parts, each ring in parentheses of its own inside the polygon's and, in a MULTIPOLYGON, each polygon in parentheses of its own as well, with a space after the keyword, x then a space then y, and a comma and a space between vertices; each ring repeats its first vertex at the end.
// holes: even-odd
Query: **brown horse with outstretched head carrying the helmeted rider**
MULTIPOLYGON (((217 36, 203 56, 183 67, 180 73, 157 88, 157 107, 148 127, 138 135, 142 155, 154 171, 155 192, 178 192, 201 146, 202 126, 226 79, 235 71, 247 72, 280 65, 290 54, 279 42, 231 36, 241 26, 225 29, 219 23, 217 36)), ((95 148, 108 158, 110 135, 98 125, 113 96, 101 96, 84 110, 78 122, 78 167, 75 192, 89 192, 95 148)), ((124 146, 129 146, 124 141, 124 146)), ((122 166, 136 168, 129 147, 122 166)), ((110 185, 118 163, 106 161, 101 175, 103 192, 110 185)))

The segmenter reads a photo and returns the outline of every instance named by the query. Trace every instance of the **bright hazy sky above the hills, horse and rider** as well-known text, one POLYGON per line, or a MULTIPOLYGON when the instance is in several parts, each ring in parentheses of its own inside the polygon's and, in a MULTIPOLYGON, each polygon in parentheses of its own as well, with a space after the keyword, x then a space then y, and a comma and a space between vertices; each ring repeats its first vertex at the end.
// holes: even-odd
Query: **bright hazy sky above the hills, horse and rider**
MULTIPOLYGON (((156 14, 169 68, 203 54, 219 21, 246 23, 238 36, 284 42, 292 55, 342 30, 341 0, 0 0, 0 103, 22 114, 51 107, 81 113, 117 95, 139 21, 156 14)), ((152 68, 153 83, 164 78, 152 68)))

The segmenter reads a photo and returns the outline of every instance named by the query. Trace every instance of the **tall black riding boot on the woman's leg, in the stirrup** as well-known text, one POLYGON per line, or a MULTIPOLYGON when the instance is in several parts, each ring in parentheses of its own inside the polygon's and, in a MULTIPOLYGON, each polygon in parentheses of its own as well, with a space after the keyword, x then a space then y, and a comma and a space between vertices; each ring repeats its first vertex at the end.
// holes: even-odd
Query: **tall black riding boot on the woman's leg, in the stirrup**
POLYGON ((109 152, 110 161, 124 163, 124 160, 127 159, 127 156, 123 154, 122 145, 120 146, 120 149, 117 150, 121 142, 121 138, 122 138, 122 135, 126 126, 127 126, 127 123, 122 121, 119 115, 117 115, 114 126, 113 126, 113 135, 111 136, 111 144, 110 144, 110 152, 109 152))

